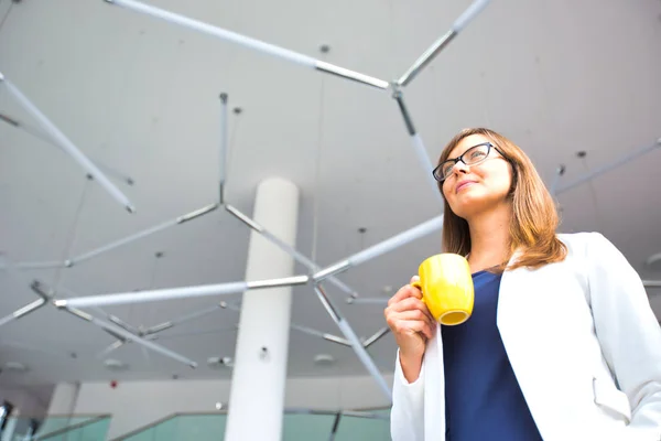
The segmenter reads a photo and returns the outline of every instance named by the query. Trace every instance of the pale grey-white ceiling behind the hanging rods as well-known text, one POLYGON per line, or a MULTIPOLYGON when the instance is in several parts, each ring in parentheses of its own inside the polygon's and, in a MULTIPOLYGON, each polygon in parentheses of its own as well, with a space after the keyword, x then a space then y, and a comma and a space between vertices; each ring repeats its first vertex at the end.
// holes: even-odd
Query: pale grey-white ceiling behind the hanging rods
MULTIPOLYGON (((399 77, 451 25, 468 0, 151 0, 159 6, 384 79, 399 77), (328 44, 328 54, 318 47, 328 44)), ((134 180, 118 185, 137 206, 127 214, 55 147, 0 126, 0 250, 13 261, 61 260, 188 213, 217 197, 219 99, 229 94, 227 198, 247 214, 257 184, 294 182, 302 194, 297 249, 333 263, 440 213, 403 121, 387 93, 113 8, 101 0, 0 0, 0 72, 91 159, 134 180), (360 234, 359 228, 367 232, 360 234)), ((494 0, 405 89, 435 158, 459 129, 488 126, 523 147, 549 182, 608 164, 661 137, 661 2, 494 0), (576 152, 584 150, 584 160, 576 152)), ((0 114, 36 122, 0 88, 0 114)), ((559 197, 563 232, 598 230, 644 278, 661 251, 661 198, 653 151, 559 197)), ((242 280, 249 232, 218 211, 62 270, 25 271, 82 295, 149 287, 242 280), (156 251, 164 252, 161 259, 156 251)), ((362 297, 388 294, 438 250, 430 236, 369 261, 342 279, 362 297)), ((297 268, 303 271, 302 268, 297 268)), ((35 300, 0 272, 0 316, 35 300)), ((382 306, 348 305, 328 287, 360 336, 384 325, 382 306)), ((650 291, 661 316, 661 295, 650 291)), ((151 326, 219 299, 108 308, 151 326)), ((231 300, 238 301, 236 295, 231 300)), ((294 289, 293 321, 340 334, 310 288, 294 289)), ((205 366, 231 355, 238 313, 218 311, 163 332, 158 341, 201 363, 128 345, 110 373, 96 354, 112 337, 53 308, 0 331, 0 363, 28 374, 0 383, 229 376, 205 366), (195 335, 177 335, 187 332, 195 335), (166 338, 165 336, 169 335, 166 338), (71 354, 75 353, 76 357, 71 354)), ((370 347, 392 370, 390 335, 370 347)), ((290 376, 362 374, 344 346, 291 332, 290 376), (337 358, 316 367, 314 355, 337 358)))

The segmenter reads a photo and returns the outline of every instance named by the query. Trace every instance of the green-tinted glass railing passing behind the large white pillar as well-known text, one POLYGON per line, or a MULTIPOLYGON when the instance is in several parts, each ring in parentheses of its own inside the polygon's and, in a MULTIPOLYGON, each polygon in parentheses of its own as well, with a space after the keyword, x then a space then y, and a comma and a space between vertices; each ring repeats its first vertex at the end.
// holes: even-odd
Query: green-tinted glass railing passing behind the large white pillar
MULTIPOLYGON (((390 440, 390 409, 316 411, 289 409, 283 441, 390 440)), ((221 441, 227 413, 177 413, 112 441, 221 441)))

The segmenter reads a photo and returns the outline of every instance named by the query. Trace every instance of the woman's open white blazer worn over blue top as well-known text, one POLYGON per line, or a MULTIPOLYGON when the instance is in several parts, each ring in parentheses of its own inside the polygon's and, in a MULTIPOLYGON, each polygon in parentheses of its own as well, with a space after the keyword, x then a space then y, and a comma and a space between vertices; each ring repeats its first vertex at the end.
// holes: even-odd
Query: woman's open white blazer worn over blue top
MULTIPOLYGON (((661 329, 640 277, 598 233, 559 238, 567 258, 506 271, 498 299, 498 330, 542 438, 661 440, 661 329)), ((398 353, 393 441, 445 440, 441 332, 411 384, 398 353)))

